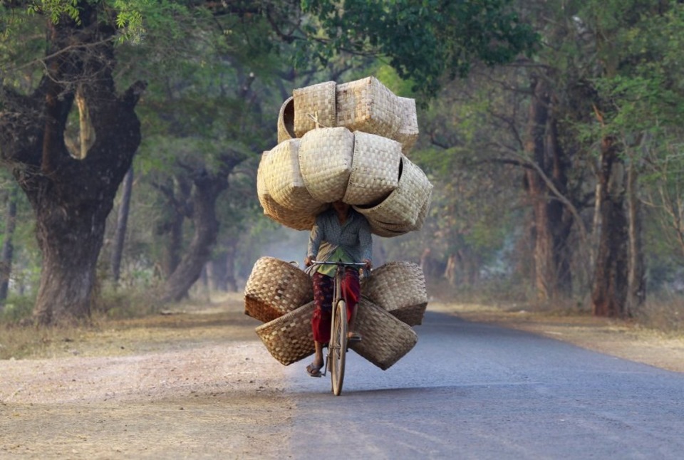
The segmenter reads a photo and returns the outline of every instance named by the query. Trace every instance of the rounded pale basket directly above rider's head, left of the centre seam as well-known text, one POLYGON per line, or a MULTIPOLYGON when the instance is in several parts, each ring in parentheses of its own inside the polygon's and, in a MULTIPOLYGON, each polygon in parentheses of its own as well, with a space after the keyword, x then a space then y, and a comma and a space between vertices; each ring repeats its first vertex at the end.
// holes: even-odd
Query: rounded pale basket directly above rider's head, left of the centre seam
POLYGON ((299 169, 306 189, 319 202, 344 197, 354 156, 354 135, 345 127, 307 132, 299 143, 299 169))

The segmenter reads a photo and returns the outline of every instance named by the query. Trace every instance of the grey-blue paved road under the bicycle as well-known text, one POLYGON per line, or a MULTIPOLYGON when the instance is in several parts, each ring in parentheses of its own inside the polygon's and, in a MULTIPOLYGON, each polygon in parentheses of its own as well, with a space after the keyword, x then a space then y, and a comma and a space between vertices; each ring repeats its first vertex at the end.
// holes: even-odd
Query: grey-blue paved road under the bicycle
POLYGON ((351 352, 343 394, 286 368, 293 459, 684 459, 684 374, 428 312, 382 371, 351 352))

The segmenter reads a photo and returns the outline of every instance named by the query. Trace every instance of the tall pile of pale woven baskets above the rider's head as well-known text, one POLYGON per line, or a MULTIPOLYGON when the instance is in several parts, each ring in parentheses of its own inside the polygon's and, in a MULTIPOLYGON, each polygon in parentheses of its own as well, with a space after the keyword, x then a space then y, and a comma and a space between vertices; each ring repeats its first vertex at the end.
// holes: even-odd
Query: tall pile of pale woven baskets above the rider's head
POLYGON ((394 95, 376 78, 296 89, 279 113, 278 145, 259 163, 264 214, 308 230, 316 214, 342 200, 378 236, 418 230, 432 184, 407 157, 417 138, 415 100, 394 95))

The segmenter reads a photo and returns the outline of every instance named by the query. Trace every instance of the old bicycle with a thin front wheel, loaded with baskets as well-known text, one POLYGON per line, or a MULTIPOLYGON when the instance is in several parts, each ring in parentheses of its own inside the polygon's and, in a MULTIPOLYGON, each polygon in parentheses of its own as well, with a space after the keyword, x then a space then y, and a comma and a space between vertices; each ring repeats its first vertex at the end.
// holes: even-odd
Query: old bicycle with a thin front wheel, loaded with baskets
MULTIPOLYGON (((326 262, 311 261, 311 266, 316 265, 336 265, 333 303, 331 305, 331 331, 330 342, 328 343, 328 355, 323 369, 330 371, 331 390, 335 396, 342 392, 344 382, 344 365, 347 353, 347 305, 342 297, 342 276, 347 267, 366 267, 364 262, 326 262)), ((358 305, 357 305, 358 308, 358 305)), ((356 312, 355 312, 356 313, 356 312)), ((325 375, 325 373, 323 373, 325 375)))

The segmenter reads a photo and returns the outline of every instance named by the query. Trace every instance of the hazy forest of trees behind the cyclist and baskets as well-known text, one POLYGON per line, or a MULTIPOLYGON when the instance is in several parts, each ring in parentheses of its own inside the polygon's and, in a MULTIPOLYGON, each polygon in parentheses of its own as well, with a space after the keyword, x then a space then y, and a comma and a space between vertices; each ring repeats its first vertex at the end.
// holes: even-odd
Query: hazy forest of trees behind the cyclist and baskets
POLYGON ((294 88, 415 98, 423 229, 374 263, 432 296, 683 328, 679 1, 2 1, 3 323, 83 323, 239 291, 301 261, 263 215, 294 88))

